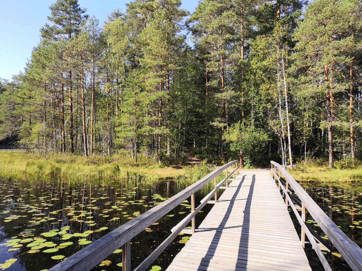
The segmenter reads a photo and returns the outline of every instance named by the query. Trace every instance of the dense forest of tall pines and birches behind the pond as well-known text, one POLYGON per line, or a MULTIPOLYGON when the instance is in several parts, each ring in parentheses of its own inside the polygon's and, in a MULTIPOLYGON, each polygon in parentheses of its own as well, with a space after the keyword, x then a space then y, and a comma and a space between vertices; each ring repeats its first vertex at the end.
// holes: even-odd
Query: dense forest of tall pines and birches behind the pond
POLYGON ((362 159, 360 1, 126 7, 104 23, 77 0, 49 7, 25 71, 0 81, 2 145, 135 163, 362 159))

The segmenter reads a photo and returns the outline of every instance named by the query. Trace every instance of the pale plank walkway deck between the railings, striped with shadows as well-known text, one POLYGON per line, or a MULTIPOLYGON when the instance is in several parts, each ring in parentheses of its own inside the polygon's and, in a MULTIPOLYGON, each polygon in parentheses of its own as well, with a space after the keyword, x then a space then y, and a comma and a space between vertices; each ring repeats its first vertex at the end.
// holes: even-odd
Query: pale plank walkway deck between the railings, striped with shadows
POLYGON ((239 172, 167 270, 311 270, 270 171, 239 172))

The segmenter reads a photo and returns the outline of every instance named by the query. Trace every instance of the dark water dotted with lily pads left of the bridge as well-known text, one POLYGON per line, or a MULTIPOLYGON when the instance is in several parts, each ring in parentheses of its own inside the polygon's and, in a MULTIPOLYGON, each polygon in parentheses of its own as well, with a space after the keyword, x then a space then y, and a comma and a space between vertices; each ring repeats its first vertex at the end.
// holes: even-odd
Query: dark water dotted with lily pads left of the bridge
MULTIPOLYGON (((180 180, 69 182, 2 178, 0 227, 5 238, 0 244, 0 264, 8 268, 12 264, 8 260, 19 259, 25 265, 18 264, 15 269, 25 271, 27 264, 39 267, 38 259, 41 258, 41 268, 49 269, 188 185, 189 182, 182 183, 180 180)), ((208 192, 205 190, 205 193, 196 194, 195 200, 201 200, 208 192)), ((206 214, 210 208, 211 205, 205 207, 206 214)), ((134 261, 142 262, 157 247, 155 240, 168 237, 171 228, 190 210, 189 198, 135 236, 131 240, 134 261)), ((200 219, 197 221, 201 221, 206 214, 198 214, 200 219)), ((182 246, 178 240, 175 241, 168 248, 170 255, 176 255, 182 246)), ((166 259, 168 256, 160 255, 162 257, 166 259)), ((107 270, 119 270, 122 266, 122 248, 115 250, 104 261, 111 263, 100 263, 94 270, 101 271, 105 267, 107 270)), ((163 266, 164 263, 158 264, 162 268, 167 267, 163 266)))

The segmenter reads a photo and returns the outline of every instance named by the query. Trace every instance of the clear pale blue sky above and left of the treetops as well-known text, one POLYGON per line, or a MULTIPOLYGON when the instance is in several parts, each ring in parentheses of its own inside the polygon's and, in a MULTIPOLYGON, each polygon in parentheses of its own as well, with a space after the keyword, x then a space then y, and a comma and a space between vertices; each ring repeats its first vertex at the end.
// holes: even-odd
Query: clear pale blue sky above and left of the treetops
MULTIPOLYGON (((1 0, 0 8, 0 78, 11 79, 24 71, 33 47, 40 39, 39 30, 50 15, 49 6, 56 0, 1 0)), ((116 8, 125 11, 130 0, 79 0, 89 16, 103 23, 116 8)), ((198 1, 182 0, 182 8, 192 12, 198 1)))

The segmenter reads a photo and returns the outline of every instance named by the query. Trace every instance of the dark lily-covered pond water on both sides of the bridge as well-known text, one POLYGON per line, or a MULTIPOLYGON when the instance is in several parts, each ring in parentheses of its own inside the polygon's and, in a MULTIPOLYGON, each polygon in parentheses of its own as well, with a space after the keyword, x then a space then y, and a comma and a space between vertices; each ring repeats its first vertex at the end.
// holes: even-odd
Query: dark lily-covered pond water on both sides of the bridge
MULTIPOLYGON (((129 185, 116 181, 72 183, 0 178, 0 264, 11 271, 48 269, 186 186, 177 180, 151 183, 140 178, 129 185)), ((362 187, 302 186, 342 231, 362 246, 362 187)), ((211 186, 198 192, 196 202, 210 190, 211 186)), ((132 268, 169 236, 172 227, 189 213, 189 204, 190 199, 131 240, 132 268)), ((197 226, 211 207, 206 205, 198 213, 197 226)), ((307 216, 307 220, 320 231, 312 218, 307 216)), ((294 224, 300 232, 296 219, 294 224)), ((165 270, 187 242, 187 236, 179 235, 152 265, 165 270)), ((109 266, 98 265, 93 270, 121 270, 117 264, 122 262, 122 253, 115 252, 104 259, 111 262, 109 266)), ((307 249, 306 253, 313 270, 324 270, 313 250, 307 249)), ((326 254, 334 269, 348 270, 344 260, 335 254, 326 254)))

